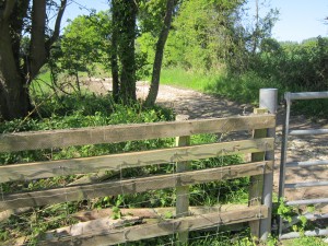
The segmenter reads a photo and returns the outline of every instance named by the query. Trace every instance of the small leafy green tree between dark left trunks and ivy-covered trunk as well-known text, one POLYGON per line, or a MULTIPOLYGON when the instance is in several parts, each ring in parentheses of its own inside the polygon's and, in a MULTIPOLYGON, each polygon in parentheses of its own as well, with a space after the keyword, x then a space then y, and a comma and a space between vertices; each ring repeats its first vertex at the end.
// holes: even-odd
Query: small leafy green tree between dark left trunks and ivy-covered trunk
MULTIPOLYGON (((79 15, 65 27, 58 48, 51 54, 50 68, 54 74, 68 73, 74 78, 80 91, 79 72, 89 77, 95 71, 95 65, 108 62, 110 49, 108 30, 112 28, 109 11, 79 15)), ((56 80, 56 77, 52 77, 56 80)))

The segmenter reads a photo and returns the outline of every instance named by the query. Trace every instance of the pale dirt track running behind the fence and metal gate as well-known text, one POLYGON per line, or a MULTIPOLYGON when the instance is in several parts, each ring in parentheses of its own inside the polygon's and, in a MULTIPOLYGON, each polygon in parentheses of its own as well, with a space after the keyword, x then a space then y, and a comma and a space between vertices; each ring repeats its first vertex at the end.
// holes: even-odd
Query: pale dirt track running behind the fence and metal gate
MULTIPOLYGON (((87 86, 98 94, 105 94, 112 89, 110 79, 91 80, 87 86)), ((144 99, 149 91, 149 83, 140 81, 137 83, 138 98, 144 99)), ((178 89, 168 85, 160 85, 156 103, 159 105, 171 107, 177 115, 185 115, 189 119, 229 117, 236 115, 247 115, 253 113, 253 105, 238 104, 223 97, 212 96, 196 92, 192 90, 178 89)), ((276 138, 276 168, 274 168, 274 190, 279 187, 280 152, 283 125, 283 105, 279 105, 277 115, 277 138, 276 138)), ((290 120, 291 129, 314 129, 328 128, 327 119, 316 119, 315 121, 303 115, 292 115, 290 120)), ((224 136, 227 140, 239 139, 241 136, 250 137, 250 132, 242 134, 224 136)), ((328 138, 327 136, 304 136, 289 137, 288 162, 328 160, 328 138)), ((286 171, 286 184, 305 181, 328 181, 328 166, 289 168, 286 171)), ((286 200, 301 200, 313 198, 328 198, 327 186, 312 188, 285 189, 286 200)), ((328 206, 317 204, 316 211, 320 213, 328 212, 328 206)))

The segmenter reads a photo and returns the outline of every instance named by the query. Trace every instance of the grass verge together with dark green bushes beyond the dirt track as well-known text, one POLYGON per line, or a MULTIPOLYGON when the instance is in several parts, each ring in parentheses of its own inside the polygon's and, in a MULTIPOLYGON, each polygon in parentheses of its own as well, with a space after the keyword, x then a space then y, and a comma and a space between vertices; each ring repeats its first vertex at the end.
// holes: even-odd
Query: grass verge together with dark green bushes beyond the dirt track
MULTIPOLYGON (((263 49, 249 60, 247 69, 229 67, 188 70, 183 63, 166 67, 161 81, 189 87, 242 103, 257 104, 258 91, 276 87, 280 98, 284 92, 326 91, 328 84, 328 38, 317 37, 297 43, 262 40, 263 49)), ((197 68, 197 69, 196 69, 197 68)), ((323 117, 327 115, 327 99, 295 102, 298 113, 323 117)))

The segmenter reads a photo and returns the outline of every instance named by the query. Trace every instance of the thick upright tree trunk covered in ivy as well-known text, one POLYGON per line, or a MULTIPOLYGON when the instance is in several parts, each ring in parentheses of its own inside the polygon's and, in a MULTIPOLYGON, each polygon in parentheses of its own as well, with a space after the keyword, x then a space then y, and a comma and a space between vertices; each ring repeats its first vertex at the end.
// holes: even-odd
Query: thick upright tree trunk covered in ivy
POLYGON ((112 1, 113 94, 116 102, 124 104, 137 101, 134 56, 137 10, 134 1, 112 1))

